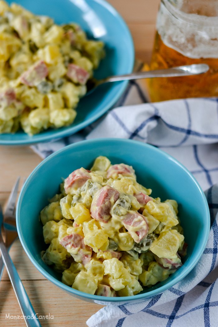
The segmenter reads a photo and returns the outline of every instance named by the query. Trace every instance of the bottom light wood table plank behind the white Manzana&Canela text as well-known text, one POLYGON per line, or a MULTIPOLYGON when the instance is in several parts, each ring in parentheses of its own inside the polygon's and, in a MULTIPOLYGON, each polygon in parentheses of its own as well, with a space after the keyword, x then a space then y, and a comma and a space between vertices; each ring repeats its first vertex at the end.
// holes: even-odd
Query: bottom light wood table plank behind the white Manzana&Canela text
MULTIPOLYGON (((48 280, 23 280, 25 290, 38 316, 50 314, 50 319, 40 319, 42 327, 86 326, 86 320, 102 308, 101 305, 78 300, 68 295, 48 280), (53 316, 54 318, 52 318, 53 316)), ((6 315, 21 314, 10 282, 0 283, 0 327, 21 326, 21 319, 7 319, 6 315)))

